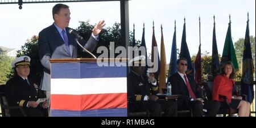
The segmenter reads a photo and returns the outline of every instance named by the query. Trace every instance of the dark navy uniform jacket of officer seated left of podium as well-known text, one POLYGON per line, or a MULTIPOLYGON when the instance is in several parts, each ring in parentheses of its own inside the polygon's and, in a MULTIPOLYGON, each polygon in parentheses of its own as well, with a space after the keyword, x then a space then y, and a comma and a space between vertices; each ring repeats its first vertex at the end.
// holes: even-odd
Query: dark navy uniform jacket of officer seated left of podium
MULTIPOLYGON (((30 78, 28 78, 28 81, 30 82, 30 85, 24 81, 22 77, 15 75, 14 78, 11 78, 6 82, 5 95, 10 106, 22 106, 27 109, 28 101, 36 101, 39 98, 46 98, 46 95, 44 95, 43 92, 33 86, 34 82, 30 78)), ((38 108, 42 107, 38 105, 38 108)), ((18 113, 13 114, 17 116, 18 113)))

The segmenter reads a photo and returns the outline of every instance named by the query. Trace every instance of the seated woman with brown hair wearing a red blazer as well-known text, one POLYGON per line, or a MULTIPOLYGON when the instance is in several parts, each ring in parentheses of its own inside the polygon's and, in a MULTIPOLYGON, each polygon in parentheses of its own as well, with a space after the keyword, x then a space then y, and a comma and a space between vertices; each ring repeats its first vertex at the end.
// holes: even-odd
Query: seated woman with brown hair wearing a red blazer
POLYGON ((238 109, 238 116, 248 117, 250 114, 250 103, 242 100, 241 96, 238 96, 233 80, 234 74, 233 63, 230 61, 226 62, 221 68, 221 74, 214 78, 212 97, 213 100, 222 102, 225 101, 225 99, 221 98, 219 95, 226 96, 230 106, 234 109, 238 109))

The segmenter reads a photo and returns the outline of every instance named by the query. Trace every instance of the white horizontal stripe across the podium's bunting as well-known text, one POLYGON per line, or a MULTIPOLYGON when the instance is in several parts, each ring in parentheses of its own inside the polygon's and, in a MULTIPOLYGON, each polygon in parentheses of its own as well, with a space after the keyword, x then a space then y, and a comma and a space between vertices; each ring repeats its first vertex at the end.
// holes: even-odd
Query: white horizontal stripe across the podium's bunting
POLYGON ((127 93, 127 78, 51 79, 51 94, 127 93))

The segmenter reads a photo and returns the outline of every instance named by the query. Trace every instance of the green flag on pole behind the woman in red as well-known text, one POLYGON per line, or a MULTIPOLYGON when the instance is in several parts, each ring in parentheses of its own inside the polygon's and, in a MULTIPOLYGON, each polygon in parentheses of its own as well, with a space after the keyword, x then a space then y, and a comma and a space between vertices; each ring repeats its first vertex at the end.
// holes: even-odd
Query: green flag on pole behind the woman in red
POLYGON ((231 36, 231 22, 229 22, 228 32, 226 32, 226 39, 225 39, 224 49, 223 49, 222 58, 221 58, 221 64, 224 64, 227 61, 232 61, 234 65, 234 70, 235 71, 238 70, 236 52, 234 50, 234 45, 233 45, 232 36, 231 36))

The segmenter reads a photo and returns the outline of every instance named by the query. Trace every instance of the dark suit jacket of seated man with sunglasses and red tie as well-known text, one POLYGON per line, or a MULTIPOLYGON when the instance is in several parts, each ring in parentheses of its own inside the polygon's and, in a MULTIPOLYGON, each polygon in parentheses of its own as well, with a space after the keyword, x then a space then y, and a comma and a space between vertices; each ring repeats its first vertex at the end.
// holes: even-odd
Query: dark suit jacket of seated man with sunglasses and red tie
MULTIPOLYGON (((188 82, 191 85, 191 89, 196 95, 197 98, 201 98, 200 91, 197 91, 197 84, 195 82, 195 79, 188 78, 188 82)), ((174 75, 172 75, 169 79, 171 86, 172 86, 172 95, 180 95, 185 100, 190 100, 189 98, 189 92, 188 88, 184 82, 184 80, 181 78, 178 72, 176 72, 174 75)))

